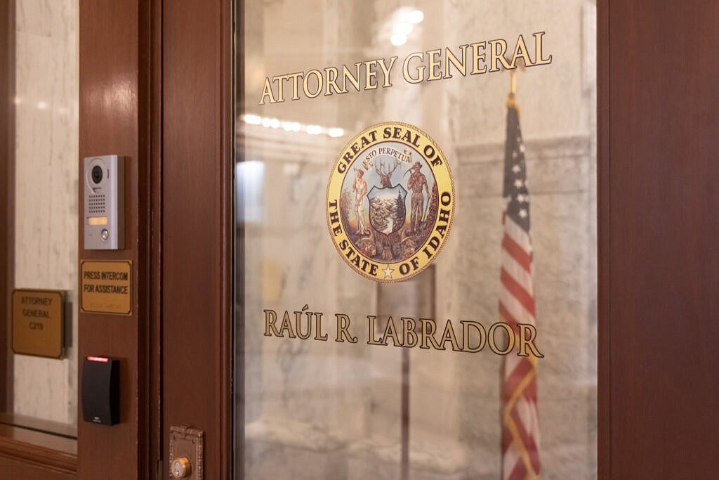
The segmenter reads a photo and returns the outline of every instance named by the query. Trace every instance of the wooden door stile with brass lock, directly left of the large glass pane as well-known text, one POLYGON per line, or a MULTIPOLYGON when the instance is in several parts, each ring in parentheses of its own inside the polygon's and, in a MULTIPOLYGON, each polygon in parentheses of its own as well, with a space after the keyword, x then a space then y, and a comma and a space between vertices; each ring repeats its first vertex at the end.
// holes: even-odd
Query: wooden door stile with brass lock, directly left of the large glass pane
POLYGON ((206 479, 232 478, 231 6, 162 13, 164 458, 170 425, 204 430, 206 479))

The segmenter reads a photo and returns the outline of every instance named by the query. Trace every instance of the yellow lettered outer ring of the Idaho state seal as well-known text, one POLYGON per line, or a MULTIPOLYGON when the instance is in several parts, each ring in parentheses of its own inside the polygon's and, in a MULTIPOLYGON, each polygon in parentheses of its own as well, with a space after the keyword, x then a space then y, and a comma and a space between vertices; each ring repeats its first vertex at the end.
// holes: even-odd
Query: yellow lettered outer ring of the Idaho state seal
MULTIPOLYGON (((337 189, 337 187, 335 186, 334 189, 337 189)), ((445 208, 447 208, 447 207, 445 207, 445 208)), ((424 130, 422 130, 419 127, 416 127, 413 124, 409 124, 406 122, 390 121, 390 122, 380 122, 377 124, 370 125, 370 127, 366 127, 361 132, 358 132, 357 134, 355 134, 349 140, 349 142, 347 142, 347 144, 344 145, 342 150, 339 151, 339 155, 337 155, 336 160, 334 161, 334 163, 332 163, 332 171, 329 175, 329 181, 327 183, 327 191, 326 191, 326 196, 325 196, 325 216, 326 216, 326 220, 327 220, 327 227, 329 229, 329 235, 330 235, 332 243, 334 244, 334 248, 337 250, 337 253, 339 253, 340 257, 342 257, 342 260, 344 261, 344 263, 347 263, 347 265, 349 266, 349 268, 352 269, 352 271, 354 271, 355 273, 359 273, 359 275, 364 276, 366 279, 370 279, 372 281, 380 281, 380 282, 384 282, 384 283, 395 283, 395 282, 400 282, 400 281, 405 281, 405 280, 411 279, 411 278, 413 278, 413 276, 416 276, 419 273, 421 273, 422 271, 424 271, 436 259, 437 255, 439 255, 439 253, 441 253, 442 248, 444 248, 444 244, 446 243, 447 239, 449 238, 449 232, 452 230, 452 223, 454 222, 454 211, 456 209, 457 209, 457 200, 456 200, 456 193, 454 191, 454 178, 452 178, 452 171, 449 168, 448 158, 446 157, 446 155, 444 155, 444 151, 441 149, 439 144, 434 140, 434 138, 432 138, 424 130), (358 150, 357 153, 354 155, 354 158, 352 158, 352 160, 349 163, 346 163, 346 165, 347 165, 346 170, 343 173, 339 173, 339 171, 337 171, 338 166, 341 163, 345 163, 343 161, 343 156, 344 156, 343 154, 346 153, 348 150, 351 150, 352 145, 354 145, 355 142, 358 142, 359 140, 361 140, 362 137, 364 137, 365 135, 369 135, 370 132, 372 132, 373 130, 377 130, 377 132, 381 133, 381 132, 383 132, 385 127, 402 127, 403 129, 406 129, 413 133, 419 134, 423 139, 426 140, 425 143, 431 145, 432 148, 434 148, 435 153, 439 154, 439 157, 442 159, 441 166, 437 166, 437 167, 432 166, 431 160, 429 160, 426 157, 426 155, 423 153, 423 151, 420 148, 417 148, 416 145, 413 145, 411 142, 408 143, 405 140, 402 140, 401 138, 390 137, 387 139, 382 138, 382 139, 375 140, 375 142, 372 142, 370 145, 367 145, 367 147, 362 148, 361 150, 358 150), (421 261, 420 266, 418 268, 416 268, 416 270, 410 271, 409 273, 406 273, 405 275, 400 276, 398 278, 394 278, 394 276, 393 276, 393 278, 390 278, 390 279, 383 278, 383 273, 381 273, 381 272, 383 272, 386 268, 390 268, 393 271, 393 273, 397 272, 399 274, 400 265, 402 265, 403 263, 408 263, 409 259, 407 259, 405 261, 395 262, 395 263, 382 263, 382 262, 375 261, 374 259, 367 258, 365 255, 362 255, 362 253, 359 253, 357 250, 354 250, 355 245, 349 240, 347 233, 344 231, 344 225, 342 224, 342 216, 339 215, 339 195, 342 193, 342 184, 344 183, 344 178, 349 174, 352 166, 361 157, 362 153, 365 153, 367 151, 367 149, 372 148, 373 146, 378 145, 380 143, 384 143, 384 142, 397 142, 397 143, 408 145, 409 147, 416 150, 417 153, 422 155, 422 158, 429 165, 429 167, 431 168, 431 172, 434 175, 434 180, 435 180, 435 184, 437 186, 437 195, 438 195, 438 198, 437 198, 438 213, 439 213, 439 209, 441 209, 441 203, 440 203, 441 191, 439 189, 440 178, 436 172, 439 171, 440 173, 443 172, 444 174, 446 174, 446 178, 441 178, 442 184, 446 184, 446 182, 449 181, 450 191, 452 192, 451 193, 452 199, 451 199, 451 201, 449 203, 449 207, 448 207, 449 208, 449 222, 447 222, 447 225, 446 225, 446 232, 444 233, 444 237, 440 238, 439 246, 436 248, 436 250, 434 250, 434 253, 432 253, 431 258, 421 261), (335 180, 336 178, 339 178, 339 181, 335 180), (337 214, 339 215, 339 225, 342 226, 342 233, 340 235, 334 234, 332 222, 331 222, 331 218, 330 218, 330 207, 329 207, 329 201, 331 198, 330 193, 331 193, 331 191, 333 191, 333 186, 336 183, 339 183, 339 191, 338 191, 338 196, 337 196, 337 214), (344 252, 342 251, 342 248, 339 247, 339 243, 343 238, 345 240, 347 240, 347 242, 350 245, 352 245, 355 255, 358 255, 363 261, 377 264, 377 266, 378 266, 377 276, 372 276, 369 273, 365 273, 365 271, 362 271, 362 268, 357 268, 357 266, 355 266, 354 263, 352 263, 352 261, 350 261, 349 258, 347 258, 347 255, 344 254, 344 252), (385 268, 382 268, 383 266, 385 268)), ((433 232, 436 229, 436 225, 437 225, 437 221, 435 220, 434 225, 432 227, 433 232)), ((423 248, 426 248, 427 245, 429 245, 429 241, 431 240, 432 236, 433 235, 429 235, 426 242, 423 243, 418 248, 418 250, 417 250, 418 253, 420 253, 421 250, 423 250, 423 248)))

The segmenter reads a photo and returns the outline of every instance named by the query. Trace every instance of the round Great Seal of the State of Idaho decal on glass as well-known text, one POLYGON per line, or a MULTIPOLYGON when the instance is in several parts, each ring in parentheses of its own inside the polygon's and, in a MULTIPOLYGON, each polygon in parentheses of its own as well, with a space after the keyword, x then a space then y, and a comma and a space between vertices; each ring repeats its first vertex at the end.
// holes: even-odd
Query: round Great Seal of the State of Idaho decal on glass
POLYGON ((439 145, 411 124, 372 125, 345 145, 327 187, 337 251, 367 279, 403 281, 434 261, 454 219, 454 182, 439 145))

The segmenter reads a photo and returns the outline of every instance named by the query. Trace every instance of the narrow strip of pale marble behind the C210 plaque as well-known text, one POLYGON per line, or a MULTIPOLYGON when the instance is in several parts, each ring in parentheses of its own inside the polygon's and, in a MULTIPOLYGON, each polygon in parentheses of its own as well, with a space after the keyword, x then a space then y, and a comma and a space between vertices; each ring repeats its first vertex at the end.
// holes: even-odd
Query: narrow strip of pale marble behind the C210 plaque
POLYGON ((77 422, 78 0, 17 0, 15 286, 68 291, 65 358, 14 356, 14 412, 77 422))

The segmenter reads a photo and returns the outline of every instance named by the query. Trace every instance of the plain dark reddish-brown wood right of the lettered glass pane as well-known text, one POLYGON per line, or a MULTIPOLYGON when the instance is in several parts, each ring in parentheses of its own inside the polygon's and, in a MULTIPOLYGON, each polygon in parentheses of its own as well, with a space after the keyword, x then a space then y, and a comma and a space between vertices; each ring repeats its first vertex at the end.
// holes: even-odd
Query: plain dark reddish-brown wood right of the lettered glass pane
POLYGON ((602 478, 715 478, 719 4, 612 1, 608 19, 602 478))

